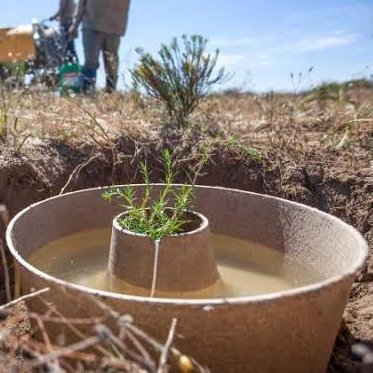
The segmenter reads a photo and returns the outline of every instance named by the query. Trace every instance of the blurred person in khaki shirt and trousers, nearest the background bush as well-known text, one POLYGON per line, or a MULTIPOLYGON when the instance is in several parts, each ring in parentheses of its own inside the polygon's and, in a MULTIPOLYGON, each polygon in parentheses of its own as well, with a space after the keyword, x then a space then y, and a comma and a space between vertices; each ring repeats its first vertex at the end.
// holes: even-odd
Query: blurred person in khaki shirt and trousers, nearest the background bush
POLYGON ((82 22, 84 47, 84 88, 95 87, 100 52, 103 53, 106 91, 113 92, 118 82, 121 37, 127 29, 130 0, 79 0, 70 35, 77 37, 82 22))

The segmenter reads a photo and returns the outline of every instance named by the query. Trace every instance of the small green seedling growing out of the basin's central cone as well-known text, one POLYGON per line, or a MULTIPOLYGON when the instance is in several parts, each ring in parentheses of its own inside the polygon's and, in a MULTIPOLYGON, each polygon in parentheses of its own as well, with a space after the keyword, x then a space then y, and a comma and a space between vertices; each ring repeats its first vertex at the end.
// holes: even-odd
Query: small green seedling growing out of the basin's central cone
POLYGON ((125 212, 118 221, 122 228, 144 234, 153 241, 182 231, 184 224, 188 222, 185 219, 185 212, 191 208, 195 197, 193 185, 173 186, 175 174, 172 171, 168 150, 162 152, 162 161, 165 169, 165 186, 157 199, 151 198, 153 187, 150 185, 150 172, 146 163, 141 164, 145 184, 145 192, 141 199, 136 197, 131 185, 110 188, 102 193, 103 199, 107 201, 117 197, 124 202, 125 212))

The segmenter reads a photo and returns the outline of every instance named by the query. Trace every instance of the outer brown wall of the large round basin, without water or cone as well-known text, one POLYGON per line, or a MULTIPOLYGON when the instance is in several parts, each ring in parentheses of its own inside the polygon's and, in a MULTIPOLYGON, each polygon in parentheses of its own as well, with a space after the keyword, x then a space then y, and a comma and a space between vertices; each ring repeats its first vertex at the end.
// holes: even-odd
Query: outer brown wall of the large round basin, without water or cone
MULTIPOLYGON (((154 198, 163 187, 154 185, 154 198)), ((134 189, 139 198, 145 193, 143 185, 134 189)), ((288 263, 298 261, 318 271, 318 280, 260 296, 162 299, 90 289, 33 267, 29 256, 52 240, 111 229, 121 208, 103 201, 102 191, 88 189, 47 199, 21 211, 9 224, 7 243, 18 264, 22 291, 50 288, 44 301, 27 300, 30 311, 44 314, 53 305, 68 319, 102 317, 98 300, 119 314, 133 315, 135 323, 160 342, 167 339, 177 318, 175 347, 212 372, 326 371, 355 274, 367 254, 367 245, 354 228, 280 198, 198 186, 194 209, 209 219, 213 234, 271 247, 288 263)), ((117 322, 107 324, 113 332, 117 322)), ((85 327, 81 331, 92 335, 91 325, 85 327)), ((57 344, 61 334, 67 343, 76 342, 64 324, 45 321, 45 328, 52 343, 57 344)))

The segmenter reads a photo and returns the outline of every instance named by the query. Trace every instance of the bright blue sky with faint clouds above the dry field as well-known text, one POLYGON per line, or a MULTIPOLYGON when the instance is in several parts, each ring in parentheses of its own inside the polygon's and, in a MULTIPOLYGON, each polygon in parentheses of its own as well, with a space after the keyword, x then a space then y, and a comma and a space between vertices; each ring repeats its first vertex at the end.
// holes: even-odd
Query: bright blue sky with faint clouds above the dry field
MULTIPOLYGON (((0 13, 0 25, 47 18, 58 2, 12 0, 0 13)), ((305 89, 373 74, 371 0, 132 0, 120 49, 122 76, 136 62, 136 47, 156 51, 183 33, 200 33, 219 48, 220 64, 234 73, 227 84, 239 88, 305 89)), ((122 87, 123 80, 128 76, 122 87)))

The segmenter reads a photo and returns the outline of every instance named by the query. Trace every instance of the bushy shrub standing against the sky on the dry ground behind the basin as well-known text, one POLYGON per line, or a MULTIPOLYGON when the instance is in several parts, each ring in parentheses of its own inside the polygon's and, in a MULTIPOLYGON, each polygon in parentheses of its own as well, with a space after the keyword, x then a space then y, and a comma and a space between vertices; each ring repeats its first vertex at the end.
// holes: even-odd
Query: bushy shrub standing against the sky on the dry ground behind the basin
POLYGON ((183 35, 162 44, 158 58, 138 49, 140 61, 130 70, 134 91, 161 101, 178 127, 198 106, 211 86, 226 78, 224 69, 215 72, 219 51, 207 53, 207 39, 183 35))

